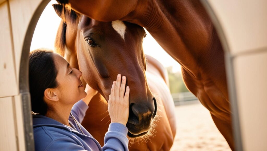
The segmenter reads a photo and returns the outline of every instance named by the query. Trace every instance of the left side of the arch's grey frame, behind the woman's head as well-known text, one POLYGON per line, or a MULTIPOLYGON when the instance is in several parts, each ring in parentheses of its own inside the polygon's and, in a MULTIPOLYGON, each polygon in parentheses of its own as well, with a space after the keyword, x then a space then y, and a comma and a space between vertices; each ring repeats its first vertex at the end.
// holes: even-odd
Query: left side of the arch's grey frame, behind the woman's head
POLYGON ((33 124, 32 114, 30 105, 30 92, 29 92, 29 52, 32 42, 34 29, 37 22, 45 9, 46 5, 50 0, 43 0, 40 5, 36 8, 33 17, 30 20, 29 26, 26 31, 26 36, 23 42, 21 62, 19 67, 19 92, 22 95, 22 111, 24 120, 24 135, 25 135, 25 149, 34 150, 34 139, 33 139, 33 124))

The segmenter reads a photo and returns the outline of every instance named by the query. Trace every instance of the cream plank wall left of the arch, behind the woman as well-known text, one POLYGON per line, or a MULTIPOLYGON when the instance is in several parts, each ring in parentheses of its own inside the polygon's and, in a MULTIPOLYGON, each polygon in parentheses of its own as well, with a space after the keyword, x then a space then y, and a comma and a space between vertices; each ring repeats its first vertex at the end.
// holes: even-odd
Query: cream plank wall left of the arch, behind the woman
POLYGON ((40 2, 41 0, 0 0, 1 151, 26 149, 19 68, 23 43, 29 37, 26 31, 40 2))

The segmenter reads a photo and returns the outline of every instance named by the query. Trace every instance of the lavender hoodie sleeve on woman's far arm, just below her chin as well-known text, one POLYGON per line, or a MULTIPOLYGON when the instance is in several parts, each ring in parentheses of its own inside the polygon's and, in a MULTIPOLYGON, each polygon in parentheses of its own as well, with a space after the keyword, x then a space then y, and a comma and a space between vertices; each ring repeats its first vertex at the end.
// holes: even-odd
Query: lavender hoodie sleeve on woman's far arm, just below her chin
POLYGON ((87 109, 88 105, 85 104, 83 100, 80 100, 74 104, 74 106, 71 109, 71 113, 79 123, 82 123, 87 109))

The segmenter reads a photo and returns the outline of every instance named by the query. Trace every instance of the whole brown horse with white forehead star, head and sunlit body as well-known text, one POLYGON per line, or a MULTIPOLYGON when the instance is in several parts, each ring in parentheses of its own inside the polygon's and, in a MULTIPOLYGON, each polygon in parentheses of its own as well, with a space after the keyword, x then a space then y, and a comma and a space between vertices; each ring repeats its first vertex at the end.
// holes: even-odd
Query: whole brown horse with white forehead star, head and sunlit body
POLYGON ((53 6, 64 20, 55 42, 57 52, 80 69, 84 80, 101 94, 91 100, 83 126, 103 145, 110 122, 106 102, 112 82, 121 73, 131 89, 126 125, 129 149, 170 150, 176 131, 174 103, 166 71, 143 53, 144 29, 122 21, 99 22, 62 5, 53 6), (100 101, 101 97, 106 101, 100 101))

